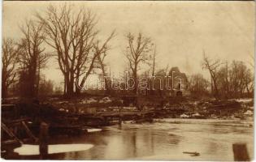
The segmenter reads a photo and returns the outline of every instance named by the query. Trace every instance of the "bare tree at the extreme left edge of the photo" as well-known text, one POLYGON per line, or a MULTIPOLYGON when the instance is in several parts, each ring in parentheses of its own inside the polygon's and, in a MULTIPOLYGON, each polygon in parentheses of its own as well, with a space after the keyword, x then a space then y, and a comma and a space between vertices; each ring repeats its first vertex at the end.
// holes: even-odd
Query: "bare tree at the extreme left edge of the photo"
POLYGON ((2 42, 2 98, 7 97, 8 87, 14 83, 18 66, 19 49, 14 40, 7 38, 2 42))

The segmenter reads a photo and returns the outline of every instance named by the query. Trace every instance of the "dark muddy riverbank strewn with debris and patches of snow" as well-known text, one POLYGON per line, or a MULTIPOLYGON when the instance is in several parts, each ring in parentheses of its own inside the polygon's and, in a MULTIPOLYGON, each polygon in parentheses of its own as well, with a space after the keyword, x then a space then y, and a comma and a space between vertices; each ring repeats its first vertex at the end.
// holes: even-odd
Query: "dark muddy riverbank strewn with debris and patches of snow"
MULTIPOLYGON (((8 104, 5 104, 8 107, 8 104)), ((30 124, 49 122, 52 127, 107 126, 112 122, 141 120, 141 118, 204 118, 252 120, 254 100, 192 100, 184 97, 47 98, 18 100, 13 109, 2 109, 3 120, 29 117, 30 124)), ((10 107, 10 106, 9 106, 10 107)))

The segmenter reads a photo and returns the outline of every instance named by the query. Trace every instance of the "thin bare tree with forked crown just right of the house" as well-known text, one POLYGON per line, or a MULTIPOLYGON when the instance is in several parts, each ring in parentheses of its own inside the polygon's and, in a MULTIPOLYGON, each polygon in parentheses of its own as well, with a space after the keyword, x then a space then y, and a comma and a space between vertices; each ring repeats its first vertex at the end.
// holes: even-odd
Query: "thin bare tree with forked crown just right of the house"
POLYGON ((211 60, 210 58, 206 57, 206 54, 203 55, 203 62, 202 62, 202 68, 209 70, 210 78, 211 78, 211 87, 212 92, 214 93, 215 98, 219 97, 219 87, 217 83, 218 79, 218 68, 222 63, 219 59, 217 60, 211 60))

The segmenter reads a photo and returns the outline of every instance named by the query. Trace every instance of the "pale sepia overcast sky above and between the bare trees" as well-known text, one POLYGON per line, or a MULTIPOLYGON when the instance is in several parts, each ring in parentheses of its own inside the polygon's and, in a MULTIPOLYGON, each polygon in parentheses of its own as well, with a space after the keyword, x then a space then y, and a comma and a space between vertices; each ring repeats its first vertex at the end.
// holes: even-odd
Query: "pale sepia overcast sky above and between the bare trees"
MULTIPOLYGON (((3 36, 19 39, 19 24, 43 13, 50 4, 64 2, 3 2, 3 36)), ((115 29, 106 61, 115 74, 124 70, 127 32, 142 32, 157 45, 157 68, 179 66, 187 75, 202 73, 202 51, 211 58, 252 62, 254 56, 254 2, 67 2, 85 6, 98 15, 102 39, 115 29)), ((52 49, 47 49, 52 50, 52 49)), ((247 63, 247 65, 249 65, 247 63)), ((47 79, 63 81, 58 63, 51 59, 43 70, 47 79)))

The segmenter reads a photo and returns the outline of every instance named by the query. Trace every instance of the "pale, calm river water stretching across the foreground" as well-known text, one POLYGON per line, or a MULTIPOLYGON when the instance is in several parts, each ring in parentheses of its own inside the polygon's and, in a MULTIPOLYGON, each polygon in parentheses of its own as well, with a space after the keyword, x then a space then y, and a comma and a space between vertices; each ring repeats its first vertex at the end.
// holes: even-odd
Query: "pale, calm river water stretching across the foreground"
MULTIPOLYGON (((108 126, 76 138, 51 143, 89 144, 84 151, 50 156, 63 160, 233 160, 232 143, 246 143, 254 158, 253 122, 161 119, 154 123, 108 126), (184 154, 197 151, 200 156, 184 154)), ((68 147, 68 145, 67 145, 68 147)))

